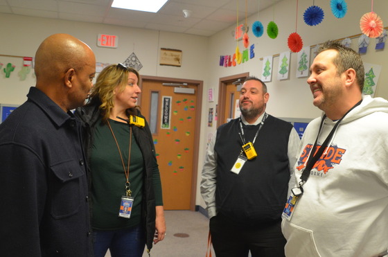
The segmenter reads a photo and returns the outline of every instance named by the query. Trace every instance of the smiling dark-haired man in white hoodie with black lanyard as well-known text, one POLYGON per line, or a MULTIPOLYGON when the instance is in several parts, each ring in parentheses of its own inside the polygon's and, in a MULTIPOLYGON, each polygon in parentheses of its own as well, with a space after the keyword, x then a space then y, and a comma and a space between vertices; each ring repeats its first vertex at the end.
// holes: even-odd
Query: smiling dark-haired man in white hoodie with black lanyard
POLYGON ((283 211, 288 257, 384 256, 388 248, 388 102, 362 96, 358 53, 325 42, 310 67, 313 104, 283 211), (312 154, 310 154, 312 153, 312 154))

